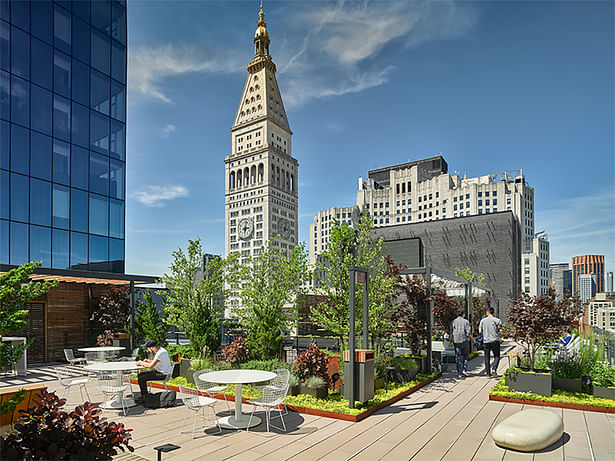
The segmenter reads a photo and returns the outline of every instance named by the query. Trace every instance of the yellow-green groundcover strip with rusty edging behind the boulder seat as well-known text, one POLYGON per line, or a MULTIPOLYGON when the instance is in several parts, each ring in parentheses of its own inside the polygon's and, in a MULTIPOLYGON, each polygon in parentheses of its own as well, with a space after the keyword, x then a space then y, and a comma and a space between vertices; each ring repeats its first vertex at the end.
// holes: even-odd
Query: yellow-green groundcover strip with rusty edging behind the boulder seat
POLYGON ((489 400, 600 413, 615 413, 615 400, 596 398, 589 394, 566 392, 559 389, 555 389, 550 397, 529 392, 514 392, 506 385, 504 378, 500 379, 499 383, 493 387, 489 393, 489 400))

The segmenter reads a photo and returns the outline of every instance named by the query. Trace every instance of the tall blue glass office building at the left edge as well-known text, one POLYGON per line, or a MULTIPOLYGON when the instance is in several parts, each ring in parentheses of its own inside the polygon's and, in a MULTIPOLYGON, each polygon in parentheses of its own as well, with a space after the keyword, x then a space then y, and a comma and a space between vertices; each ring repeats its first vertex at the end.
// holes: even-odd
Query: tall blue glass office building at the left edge
POLYGON ((124 272, 126 2, 0 0, 0 264, 124 272))

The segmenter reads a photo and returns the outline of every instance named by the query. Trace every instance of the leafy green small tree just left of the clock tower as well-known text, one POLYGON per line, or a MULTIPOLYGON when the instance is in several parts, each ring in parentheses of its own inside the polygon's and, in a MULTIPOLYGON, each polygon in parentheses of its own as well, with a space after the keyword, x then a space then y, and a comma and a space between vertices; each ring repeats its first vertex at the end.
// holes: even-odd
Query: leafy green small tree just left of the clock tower
POLYGON ((225 261, 210 259, 203 267, 200 239, 188 240, 188 249, 172 254, 166 283, 164 310, 169 324, 177 325, 190 339, 194 351, 214 352, 220 347, 220 318, 223 316, 225 261))

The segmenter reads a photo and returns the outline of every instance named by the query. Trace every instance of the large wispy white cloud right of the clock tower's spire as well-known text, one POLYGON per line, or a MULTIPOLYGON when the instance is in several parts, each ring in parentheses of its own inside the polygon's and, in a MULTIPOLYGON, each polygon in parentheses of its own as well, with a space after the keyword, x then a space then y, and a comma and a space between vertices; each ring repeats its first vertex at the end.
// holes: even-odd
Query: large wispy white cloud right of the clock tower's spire
POLYGON ((392 58, 384 56, 387 46, 408 48, 456 37, 476 19, 474 7, 452 1, 312 4, 290 19, 312 26, 299 46, 289 42, 282 49, 284 100, 299 106, 385 84, 395 69, 392 58))

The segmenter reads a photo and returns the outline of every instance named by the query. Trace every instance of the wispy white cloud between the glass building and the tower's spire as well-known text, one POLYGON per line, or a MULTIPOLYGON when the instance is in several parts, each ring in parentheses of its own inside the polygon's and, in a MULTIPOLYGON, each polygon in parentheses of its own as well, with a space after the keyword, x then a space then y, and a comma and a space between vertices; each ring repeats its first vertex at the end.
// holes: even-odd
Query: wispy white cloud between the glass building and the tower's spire
POLYGON ((166 44, 139 48, 129 55, 128 89, 133 93, 170 103, 164 89, 166 79, 191 72, 238 72, 245 65, 233 61, 236 53, 224 59, 208 53, 208 46, 166 44))

